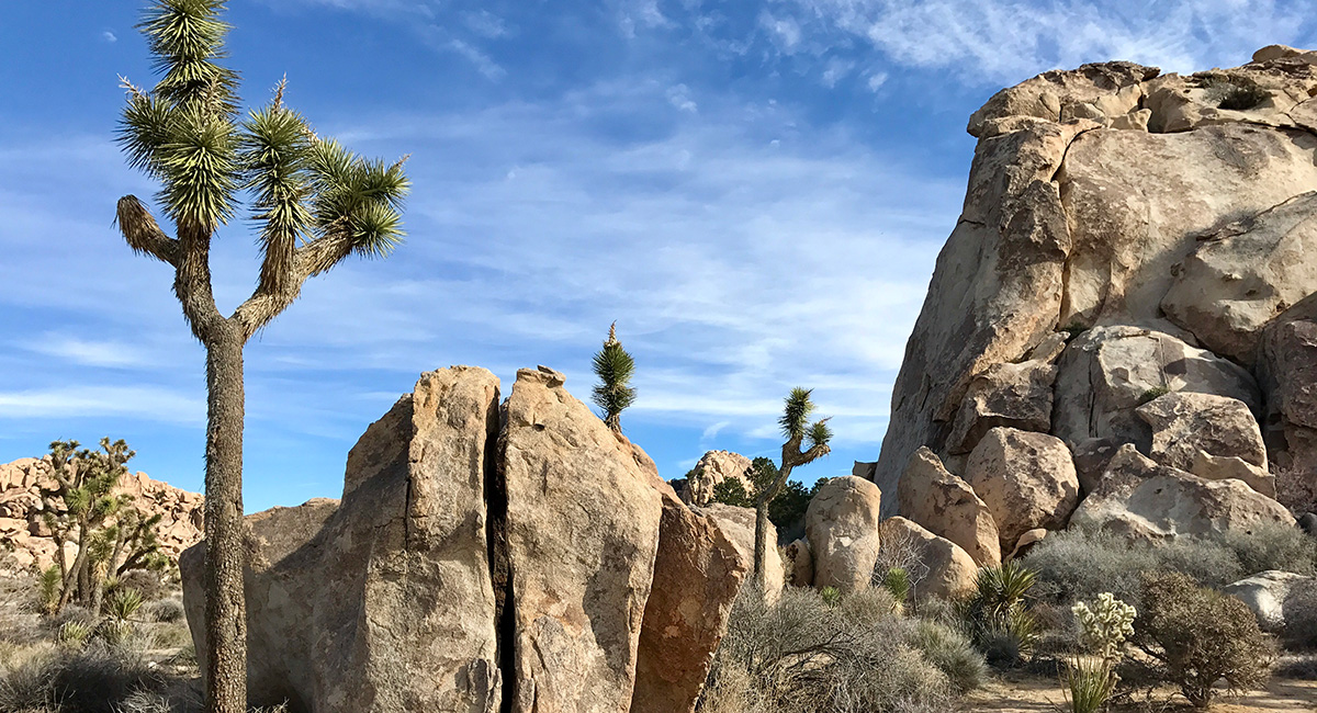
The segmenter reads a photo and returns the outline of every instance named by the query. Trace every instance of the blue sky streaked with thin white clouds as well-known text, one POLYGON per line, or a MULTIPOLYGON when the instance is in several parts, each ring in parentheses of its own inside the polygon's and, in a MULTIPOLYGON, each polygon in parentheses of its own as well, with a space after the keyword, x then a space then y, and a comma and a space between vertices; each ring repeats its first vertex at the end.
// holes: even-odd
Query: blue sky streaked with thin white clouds
MULTIPOLYGON (((158 189, 115 142, 154 83, 140 0, 0 5, 0 463, 126 439, 200 491, 204 351, 115 201, 158 189)), ((286 101, 370 157, 410 154, 407 242, 311 280, 246 347, 248 512, 341 492, 346 453, 420 372, 547 364, 589 397, 618 322, 624 431, 682 476, 776 455, 792 387, 836 431, 801 480, 877 459, 973 157, 965 120, 1050 68, 1164 71, 1317 47, 1317 0, 232 0, 248 105, 286 101)), ((157 213, 158 214, 158 213, 157 213)), ((212 263, 257 275, 249 221, 212 263)))

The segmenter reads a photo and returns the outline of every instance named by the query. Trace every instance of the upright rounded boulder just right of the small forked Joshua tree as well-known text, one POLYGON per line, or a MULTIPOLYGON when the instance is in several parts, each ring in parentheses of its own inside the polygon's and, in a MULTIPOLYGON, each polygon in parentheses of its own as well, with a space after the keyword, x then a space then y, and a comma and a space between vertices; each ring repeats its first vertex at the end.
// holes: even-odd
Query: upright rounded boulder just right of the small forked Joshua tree
POLYGON ((805 510, 805 534, 814 554, 814 587, 843 592, 865 588, 878 562, 882 492, 846 475, 824 483, 805 510))

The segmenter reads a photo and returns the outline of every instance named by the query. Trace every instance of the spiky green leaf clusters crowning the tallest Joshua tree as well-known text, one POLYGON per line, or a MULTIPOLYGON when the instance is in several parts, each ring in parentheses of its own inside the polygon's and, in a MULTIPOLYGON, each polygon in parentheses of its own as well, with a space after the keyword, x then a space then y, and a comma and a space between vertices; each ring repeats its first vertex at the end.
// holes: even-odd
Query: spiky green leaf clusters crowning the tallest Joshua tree
POLYGON ((119 143, 129 163, 161 182, 157 197, 180 228, 228 222, 238 191, 249 189, 266 254, 262 282, 286 278, 292 250, 311 237, 345 237, 358 255, 387 255, 403 238, 402 162, 320 139, 283 107, 283 83, 274 101, 237 121, 237 74, 219 63, 224 9, 220 0, 155 0, 148 9, 140 29, 161 79, 151 91, 125 80, 119 143))

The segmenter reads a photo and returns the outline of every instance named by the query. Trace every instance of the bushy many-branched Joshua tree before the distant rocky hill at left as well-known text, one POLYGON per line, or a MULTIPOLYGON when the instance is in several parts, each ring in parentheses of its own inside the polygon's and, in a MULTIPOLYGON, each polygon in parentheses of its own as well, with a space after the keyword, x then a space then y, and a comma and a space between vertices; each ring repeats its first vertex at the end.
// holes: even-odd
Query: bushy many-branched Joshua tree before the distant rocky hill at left
POLYGON ((163 563, 154 531, 159 516, 145 517, 130 496, 115 493, 136 453, 122 439, 101 438, 99 451, 78 446, 50 443, 53 485, 41 489, 42 522, 55 542, 55 564, 43 578, 53 613, 70 601, 97 612, 107 578, 163 563), (68 542, 75 543, 72 562, 68 542))

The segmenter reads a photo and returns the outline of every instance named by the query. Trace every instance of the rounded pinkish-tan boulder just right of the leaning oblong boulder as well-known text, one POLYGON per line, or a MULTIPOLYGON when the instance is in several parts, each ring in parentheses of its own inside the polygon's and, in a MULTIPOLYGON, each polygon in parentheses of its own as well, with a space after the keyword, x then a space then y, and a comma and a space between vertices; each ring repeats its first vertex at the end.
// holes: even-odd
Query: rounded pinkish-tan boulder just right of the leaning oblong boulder
POLYGON ((1064 528, 1079 504, 1069 449, 1044 433, 989 430, 969 454, 965 480, 997 524, 1000 553, 1013 551, 1019 535, 1035 528, 1064 528))

